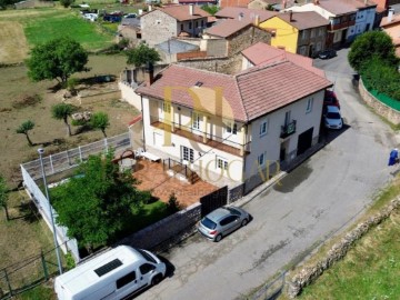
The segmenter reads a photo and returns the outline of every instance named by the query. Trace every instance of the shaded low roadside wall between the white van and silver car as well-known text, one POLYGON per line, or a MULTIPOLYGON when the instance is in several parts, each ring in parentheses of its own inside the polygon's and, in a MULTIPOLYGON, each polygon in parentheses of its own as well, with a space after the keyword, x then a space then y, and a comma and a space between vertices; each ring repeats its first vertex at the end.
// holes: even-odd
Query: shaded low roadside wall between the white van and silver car
POLYGON ((197 202, 119 241, 134 248, 161 251, 178 243, 193 232, 201 218, 201 203, 197 202))

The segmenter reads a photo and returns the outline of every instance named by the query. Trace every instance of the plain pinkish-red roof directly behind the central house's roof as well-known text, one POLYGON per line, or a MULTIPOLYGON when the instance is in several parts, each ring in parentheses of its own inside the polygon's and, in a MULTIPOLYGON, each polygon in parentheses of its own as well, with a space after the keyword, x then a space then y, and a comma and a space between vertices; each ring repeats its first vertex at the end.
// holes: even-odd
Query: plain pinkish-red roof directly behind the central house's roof
POLYGON ((242 54, 254 66, 289 60, 320 77, 324 77, 324 72, 322 70, 312 66, 312 59, 287 52, 263 42, 250 46, 242 51, 242 54))

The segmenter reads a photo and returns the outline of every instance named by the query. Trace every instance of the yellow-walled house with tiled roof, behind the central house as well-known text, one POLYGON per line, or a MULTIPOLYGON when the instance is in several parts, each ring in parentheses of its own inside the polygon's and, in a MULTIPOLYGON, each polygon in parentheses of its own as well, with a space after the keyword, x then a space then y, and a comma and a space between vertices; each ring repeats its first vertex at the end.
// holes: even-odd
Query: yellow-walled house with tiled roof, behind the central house
POLYGON ((316 57, 326 48, 328 20, 313 11, 279 13, 261 28, 274 31, 271 46, 304 57, 316 57))

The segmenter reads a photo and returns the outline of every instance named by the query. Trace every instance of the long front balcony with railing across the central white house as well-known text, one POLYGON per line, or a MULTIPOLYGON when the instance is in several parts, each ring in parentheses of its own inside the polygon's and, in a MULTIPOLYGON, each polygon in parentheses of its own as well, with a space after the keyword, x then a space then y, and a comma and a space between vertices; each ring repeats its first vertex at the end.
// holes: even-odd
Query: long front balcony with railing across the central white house
POLYGON ((159 119, 157 117, 150 117, 150 123, 154 128, 171 132, 173 134, 187 138, 189 140, 206 144, 208 147, 221 150, 223 152, 228 152, 237 157, 244 157, 250 153, 251 142, 241 144, 234 141, 223 139, 221 137, 212 136, 208 132, 194 130, 191 127, 186 127, 179 123, 171 122, 169 120, 159 119), (243 151, 241 151, 241 149, 243 149, 243 151))

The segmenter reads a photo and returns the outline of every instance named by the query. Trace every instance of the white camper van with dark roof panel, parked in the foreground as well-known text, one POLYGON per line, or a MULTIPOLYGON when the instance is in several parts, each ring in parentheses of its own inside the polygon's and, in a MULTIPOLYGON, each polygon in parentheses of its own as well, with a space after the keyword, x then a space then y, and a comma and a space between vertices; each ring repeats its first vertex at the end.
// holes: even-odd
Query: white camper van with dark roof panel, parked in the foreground
POLYGON ((119 246, 57 277, 54 290, 59 300, 123 299, 159 283, 166 269, 153 253, 119 246))

